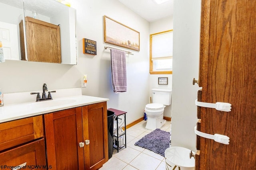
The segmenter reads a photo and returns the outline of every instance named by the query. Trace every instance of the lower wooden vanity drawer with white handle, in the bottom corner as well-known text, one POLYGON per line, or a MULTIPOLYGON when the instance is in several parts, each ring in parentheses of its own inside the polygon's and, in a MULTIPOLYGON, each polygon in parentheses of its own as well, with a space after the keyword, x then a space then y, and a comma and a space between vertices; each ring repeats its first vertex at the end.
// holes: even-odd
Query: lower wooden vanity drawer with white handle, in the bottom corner
POLYGON ((24 169, 46 169, 44 139, 0 153, 0 170, 22 165, 24 169))

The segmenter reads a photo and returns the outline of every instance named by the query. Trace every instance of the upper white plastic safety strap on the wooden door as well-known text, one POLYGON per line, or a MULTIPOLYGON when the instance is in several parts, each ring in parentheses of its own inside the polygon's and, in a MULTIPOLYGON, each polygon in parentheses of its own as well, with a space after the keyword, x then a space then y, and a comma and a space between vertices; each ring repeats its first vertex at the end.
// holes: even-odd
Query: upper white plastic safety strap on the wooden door
POLYGON ((196 106, 200 107, 208 107, 208 108, 214 108, 216 110, 220 111, 231 111, 231 104, 230 103, 223 103, 223 102, 217 102, 217 103, 205 103, 205 102, 198 102, 196 99, 196 106))

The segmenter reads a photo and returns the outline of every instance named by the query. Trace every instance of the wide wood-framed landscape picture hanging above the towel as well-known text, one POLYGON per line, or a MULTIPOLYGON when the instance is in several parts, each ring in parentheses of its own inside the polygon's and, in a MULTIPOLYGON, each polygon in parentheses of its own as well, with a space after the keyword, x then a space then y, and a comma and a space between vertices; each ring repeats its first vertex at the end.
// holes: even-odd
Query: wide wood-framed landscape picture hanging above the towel
POLYGON ((104 16, 104 42, 140 51, 140 32, 104 16))

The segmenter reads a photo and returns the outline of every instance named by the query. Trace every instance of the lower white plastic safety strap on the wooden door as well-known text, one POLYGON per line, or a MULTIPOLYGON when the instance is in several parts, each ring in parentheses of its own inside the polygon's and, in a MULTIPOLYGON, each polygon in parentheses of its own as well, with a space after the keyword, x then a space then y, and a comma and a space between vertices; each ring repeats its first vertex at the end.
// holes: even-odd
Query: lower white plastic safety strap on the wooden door
POLYGON ((229 145, 229 137, 228 136, 220 135, 220 134, 211 135, 211 134, 208 134, 208 133, 202 133, 202 132, 196 130, 196 126, 195 126, 195 133, 196 133, 196 135, 198 135, 200 137, 204 137, 204 138, 207 138, 207 139, 213 139, 215 142, 223 143, 225 145, 229 145))

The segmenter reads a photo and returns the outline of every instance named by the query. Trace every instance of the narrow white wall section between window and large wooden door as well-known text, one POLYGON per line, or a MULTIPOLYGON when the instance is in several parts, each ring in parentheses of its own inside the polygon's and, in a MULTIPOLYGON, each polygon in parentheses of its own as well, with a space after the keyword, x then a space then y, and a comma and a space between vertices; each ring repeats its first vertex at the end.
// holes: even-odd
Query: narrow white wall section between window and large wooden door
POLYGON ((196 150, 194 126, 198 86, 200 0, 174 0, 172 144, 196 150))

